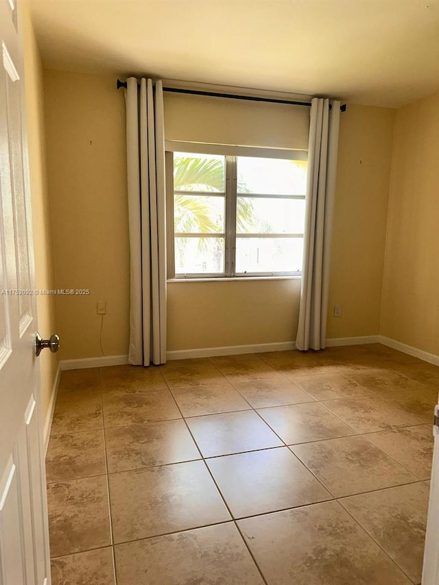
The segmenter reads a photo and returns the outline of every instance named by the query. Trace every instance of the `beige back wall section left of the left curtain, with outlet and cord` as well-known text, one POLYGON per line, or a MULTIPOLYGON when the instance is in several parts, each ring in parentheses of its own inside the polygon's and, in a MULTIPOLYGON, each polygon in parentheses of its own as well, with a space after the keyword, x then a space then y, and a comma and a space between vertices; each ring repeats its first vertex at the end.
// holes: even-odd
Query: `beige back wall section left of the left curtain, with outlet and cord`
POLYGON ((129 254, 125 106, 114 77, 45 71, 54 285, 61 359, 128 353, 129 254))

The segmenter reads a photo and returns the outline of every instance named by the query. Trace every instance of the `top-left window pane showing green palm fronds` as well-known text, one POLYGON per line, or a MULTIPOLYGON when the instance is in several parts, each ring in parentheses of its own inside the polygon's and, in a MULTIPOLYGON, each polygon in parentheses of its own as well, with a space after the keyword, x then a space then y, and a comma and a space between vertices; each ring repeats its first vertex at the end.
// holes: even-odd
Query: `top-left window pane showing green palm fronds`
POLYGON ((225 160, 220 154, 174 152, 174 190, 224 193, 225 160))

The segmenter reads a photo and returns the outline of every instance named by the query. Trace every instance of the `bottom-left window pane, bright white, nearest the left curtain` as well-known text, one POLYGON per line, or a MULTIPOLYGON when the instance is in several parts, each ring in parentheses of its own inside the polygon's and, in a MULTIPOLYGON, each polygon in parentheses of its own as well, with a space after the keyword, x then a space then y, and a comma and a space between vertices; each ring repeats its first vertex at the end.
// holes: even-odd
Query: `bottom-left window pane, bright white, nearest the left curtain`
POLYGON ((176 274, 224 274, 224 238, 175 239, 176 274))

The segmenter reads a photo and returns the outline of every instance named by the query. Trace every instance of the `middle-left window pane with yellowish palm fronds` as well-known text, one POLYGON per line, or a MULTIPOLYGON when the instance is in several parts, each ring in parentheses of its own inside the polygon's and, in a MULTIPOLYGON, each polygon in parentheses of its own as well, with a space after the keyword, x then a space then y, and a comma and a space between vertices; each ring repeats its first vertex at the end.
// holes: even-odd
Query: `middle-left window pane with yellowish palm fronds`
POLYGON ((174 231, 224 233, 224 202, 218 195, 174 195, 174 231))

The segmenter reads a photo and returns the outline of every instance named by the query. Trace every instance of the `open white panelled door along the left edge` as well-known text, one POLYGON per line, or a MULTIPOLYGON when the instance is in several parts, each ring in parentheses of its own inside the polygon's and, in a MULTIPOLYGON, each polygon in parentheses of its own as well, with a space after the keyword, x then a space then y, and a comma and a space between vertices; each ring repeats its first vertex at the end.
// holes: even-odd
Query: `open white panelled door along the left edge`
POLYGON ((23 49, 16 0, 0 0, 0 584, 49 585, 23 49), (18 28, 18 32, 17 32, 18 28))

